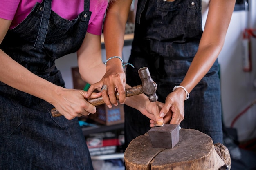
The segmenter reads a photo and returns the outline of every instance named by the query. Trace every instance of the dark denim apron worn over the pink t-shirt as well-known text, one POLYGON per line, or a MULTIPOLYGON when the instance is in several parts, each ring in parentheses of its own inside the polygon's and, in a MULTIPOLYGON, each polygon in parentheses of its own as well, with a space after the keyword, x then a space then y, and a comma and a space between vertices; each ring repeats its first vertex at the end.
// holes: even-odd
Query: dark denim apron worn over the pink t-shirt
MULTIPOLYGON (((54 13, 51 4, 36 3, 27 18, 7 32, 0 48, 32 73, 64 87, 55 60, 81 46, 90 1, 85 0, 84 11, 72 21, 54 13)), ((1 170, 93 170, 78 119, 54 118, 52 108, 0 82, 1 170)))

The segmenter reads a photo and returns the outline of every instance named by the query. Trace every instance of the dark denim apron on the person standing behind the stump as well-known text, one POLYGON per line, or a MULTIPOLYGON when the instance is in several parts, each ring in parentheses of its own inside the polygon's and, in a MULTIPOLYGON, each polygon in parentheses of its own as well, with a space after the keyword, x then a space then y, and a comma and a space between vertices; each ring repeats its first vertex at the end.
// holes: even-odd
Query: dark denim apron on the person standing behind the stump
MULTIPOLYGON (((137 70, 147 66, 157 83, 160 102, 174 86, 180 85, 198 50, 202 35, 201 0, 138 0, 135 34, 126 82, 141 84, 137 70)), ((182 128, 193 128, 222 142, 220 80, 218 60, 191 91, 184 103, 182 128)), ((126 146, 150 129, 149 119, 137 110, 124 106, 126 146)))

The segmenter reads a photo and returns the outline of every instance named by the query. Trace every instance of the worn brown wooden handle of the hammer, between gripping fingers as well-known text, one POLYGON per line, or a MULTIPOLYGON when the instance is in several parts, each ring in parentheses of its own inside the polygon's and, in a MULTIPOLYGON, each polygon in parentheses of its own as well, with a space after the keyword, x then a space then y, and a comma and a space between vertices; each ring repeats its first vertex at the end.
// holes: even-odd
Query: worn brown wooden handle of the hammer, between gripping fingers
MULTIPOLYGON (((134 96, 134 95, 139 95, 139 94, 143 93, 141 87, 142 87, 142 85, 138 85, 138 86, 134 86, 134 87, 131 87, 131 88, 127 88, 126 89, 126 97, 130 97, 130 96, 134 96)), ((115 93, 115 96, 117 97, 117 100, 119 100, 119 93, 115 93)), ((99 106, 99 105, 105 103, 102 96, 94 98, 94 99, 85 99, 85 100, 87 102, 89 102, 90 104, 93 104, 94 106, 99 106)), ((62 116, 61 113, 59 113, 56 108, 53 108, 51 110, 51 113, 52 113, 53 117, 62 116)))

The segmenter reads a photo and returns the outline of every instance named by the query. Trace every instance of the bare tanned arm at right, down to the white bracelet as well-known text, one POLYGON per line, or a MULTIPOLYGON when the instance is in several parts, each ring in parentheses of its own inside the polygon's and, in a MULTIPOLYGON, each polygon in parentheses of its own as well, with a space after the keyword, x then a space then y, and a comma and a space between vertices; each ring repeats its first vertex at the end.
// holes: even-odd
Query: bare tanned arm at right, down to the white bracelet
POLYGON ((189 70, 180 84, 190 92, 196 84, 207 74, 217 59, 223 44, 235 0, 211 0, 204 32, 198 47, 198 52, 189 67, 189 70), (218 11, 218 13, 216 13, 218 11))

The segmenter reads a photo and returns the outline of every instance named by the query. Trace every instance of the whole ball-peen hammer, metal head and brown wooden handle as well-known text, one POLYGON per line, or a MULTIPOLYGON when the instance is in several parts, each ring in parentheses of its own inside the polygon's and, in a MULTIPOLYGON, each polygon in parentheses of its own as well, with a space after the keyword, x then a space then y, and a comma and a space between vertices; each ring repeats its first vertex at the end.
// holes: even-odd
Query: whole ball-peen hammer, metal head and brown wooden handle
MULTIPOLYGON (((148 67, 143 67, 138 70, 139 77, 141 78, 141 85, 134 86, 131 88, 126 89, 126 97, 134 96, 134 95, 139 95, 144 93, 145 95, 148 96, 148 99, 150 102, 156 102, 158 97, 157 94, 155 93, 157 90, 157 84, 153 81, 153 79, 150 76, 148 67)), ((119 100, 119 93, 116 92, 115 96, 117 100, 119 100)), ((94 99, 86 99, 89 103, 93 104, 94 106, 99 106, 101 104, 104 104, 103 97, 97 97, 94 99)), ((56 108, 53 108, 51 110, 52 116, 53 117, 58 117, 62 116, 61 113, 58 112, 56 108)))

